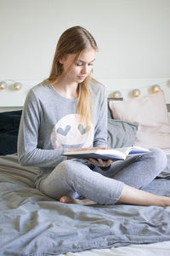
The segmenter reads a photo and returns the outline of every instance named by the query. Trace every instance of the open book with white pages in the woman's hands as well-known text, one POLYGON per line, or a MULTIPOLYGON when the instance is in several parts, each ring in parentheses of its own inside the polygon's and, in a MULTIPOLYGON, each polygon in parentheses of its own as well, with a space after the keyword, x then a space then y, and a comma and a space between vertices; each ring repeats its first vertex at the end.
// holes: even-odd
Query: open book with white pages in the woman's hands
POLYGON ((89 159, 100 158, 102 160, 126 160, 130 156, 146 154, 150 150, 147 148, 141 148, 132 146, 128 148, 114 148, 114 149, 94 149, 94 150, 81 150, 80 151, 67 151, 63 155, 72 158, 89 159))

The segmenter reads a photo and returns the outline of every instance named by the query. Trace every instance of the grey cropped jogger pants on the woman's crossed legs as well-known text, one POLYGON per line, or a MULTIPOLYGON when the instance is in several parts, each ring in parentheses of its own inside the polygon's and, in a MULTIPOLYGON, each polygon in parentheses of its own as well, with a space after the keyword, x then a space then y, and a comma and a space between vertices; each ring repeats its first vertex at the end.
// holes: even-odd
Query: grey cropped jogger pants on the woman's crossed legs
POLYGON ((89 166, 77 160, 64 160, 48 177, 42 179, 39 189, 56 200, 63 195, 80 195, 99 204, 115 204, 124 183, 141 189, 149 184, 166 166, 167 156, 153 148, 149 154, 118 160, 109 171, 89 166))

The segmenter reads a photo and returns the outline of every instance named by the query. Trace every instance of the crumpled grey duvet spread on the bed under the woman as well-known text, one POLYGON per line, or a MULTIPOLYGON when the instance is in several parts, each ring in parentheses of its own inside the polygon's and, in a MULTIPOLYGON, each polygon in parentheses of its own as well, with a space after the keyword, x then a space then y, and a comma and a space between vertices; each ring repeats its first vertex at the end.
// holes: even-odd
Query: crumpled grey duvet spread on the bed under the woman
MULTIPOLYGON (((144 190, 170 195, 167 168, 144 190)), ((40 256, 170 240, 170 207, 61 204, 34 188, 37 168, 0 157, 0 255, 40 256)))

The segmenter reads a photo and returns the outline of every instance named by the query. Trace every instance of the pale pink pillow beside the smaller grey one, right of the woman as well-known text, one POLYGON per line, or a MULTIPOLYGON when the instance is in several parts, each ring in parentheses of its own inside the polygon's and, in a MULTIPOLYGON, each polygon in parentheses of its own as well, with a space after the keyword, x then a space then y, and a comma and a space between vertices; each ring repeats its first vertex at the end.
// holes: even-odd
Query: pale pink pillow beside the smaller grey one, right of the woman
POLYGON ((127 102, 110 102, 113 117, 139 125, 135 145, 170 148, 170 121, 163 91, 127 102))

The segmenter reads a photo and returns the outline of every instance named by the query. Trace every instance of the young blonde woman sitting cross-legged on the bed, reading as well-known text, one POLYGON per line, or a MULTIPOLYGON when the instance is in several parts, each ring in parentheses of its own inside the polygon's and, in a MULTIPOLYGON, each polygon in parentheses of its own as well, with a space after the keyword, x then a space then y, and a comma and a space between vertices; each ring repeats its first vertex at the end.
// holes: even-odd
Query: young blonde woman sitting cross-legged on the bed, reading
POLYGON ((39 167, 37 189, 60 202, 170 206, 170 198, 141 190, 166 165, 161 149, 115 162, 62 155, 71 149, 107 148, 105 87, 92 79, 97 49, 81 26, 61 35, 49 78, 26 97, 20 164, 39 167))

